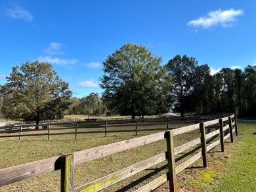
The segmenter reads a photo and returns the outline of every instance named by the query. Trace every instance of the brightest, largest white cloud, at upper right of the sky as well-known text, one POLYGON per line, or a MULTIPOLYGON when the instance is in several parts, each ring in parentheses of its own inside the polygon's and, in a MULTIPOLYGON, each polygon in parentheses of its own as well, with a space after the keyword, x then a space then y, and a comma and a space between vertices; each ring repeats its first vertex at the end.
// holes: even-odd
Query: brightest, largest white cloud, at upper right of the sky
POLYGON ((200 17, 196 20, 191 20, 187 23, 188 26, 202 27, 204 29, 211 28, 213 26, 232 27, 236 22, 236 17, 242 15, 243 10, 215 10, 208 12, 207 16, 200 17))

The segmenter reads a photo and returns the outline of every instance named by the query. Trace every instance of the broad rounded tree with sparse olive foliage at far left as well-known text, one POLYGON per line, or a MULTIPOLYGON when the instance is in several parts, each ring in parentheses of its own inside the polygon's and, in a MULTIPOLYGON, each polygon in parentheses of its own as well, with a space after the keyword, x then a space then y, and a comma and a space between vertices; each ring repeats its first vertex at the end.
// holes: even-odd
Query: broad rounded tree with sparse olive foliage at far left
POLYGON ((51 64, 38 61, 12 67, 1 92, 5 118, 35 121, 37 125, 41 120, 62 119, 72 96, 68 83, 51 64))

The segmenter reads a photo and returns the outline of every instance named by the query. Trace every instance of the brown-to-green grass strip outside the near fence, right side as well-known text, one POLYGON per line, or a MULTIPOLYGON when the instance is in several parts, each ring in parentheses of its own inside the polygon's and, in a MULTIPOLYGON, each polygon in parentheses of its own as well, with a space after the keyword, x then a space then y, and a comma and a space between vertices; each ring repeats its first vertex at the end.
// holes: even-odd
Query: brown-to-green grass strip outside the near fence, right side
POLYGON ((238 122, 234 143, 226 140, 207 153, 208 168, 188 168, 178 175, 179 191, 255 191, 256 122, 238 122), (185 175, 184 175, 185 174, 185 175))

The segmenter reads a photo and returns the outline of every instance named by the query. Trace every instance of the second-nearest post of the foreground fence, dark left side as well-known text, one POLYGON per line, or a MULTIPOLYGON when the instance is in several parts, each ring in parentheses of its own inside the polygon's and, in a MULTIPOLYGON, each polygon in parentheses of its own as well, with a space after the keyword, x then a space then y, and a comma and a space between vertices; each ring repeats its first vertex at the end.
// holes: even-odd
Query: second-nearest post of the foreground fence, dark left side
POLYGON ((169 176, 169 190, 178 191, 177 189, 177 178, 176 178, 176 166, 175 166, 175 155, 174 155, 174 144, 173 144, 173 131, 165 132, 165 139, 167 144, 167 161, 168 161, 168 176, 169 176))

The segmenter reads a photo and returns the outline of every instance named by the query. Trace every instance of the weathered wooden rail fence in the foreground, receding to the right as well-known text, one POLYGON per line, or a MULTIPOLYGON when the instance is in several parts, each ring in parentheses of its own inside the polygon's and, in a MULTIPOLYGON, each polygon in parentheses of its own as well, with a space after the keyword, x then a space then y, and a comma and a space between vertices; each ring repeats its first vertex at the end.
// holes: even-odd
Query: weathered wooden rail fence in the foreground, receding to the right
POLYGON ((158 132, 156 134, 150 134, 148 136, 133 138, 131 140, 116 142, 114 144, 103 145, 83 151, 77 151, 69 155, 51 157, 41 161, 12 166, 10 168, 3 168, 0 170, 0 186, 39 176, 41 174, 47 174, 54 170, 61 170, 61 191, 99 191, 100 189, 104 189, 114 183, 124 180, 125 178, 133 176, 146 168, 150 168, 155 164, 167 160, 167 173, 140 187, 136 191, 152 191, 166 182, 169 182, 170 191, 177 191, 177 174, 201 157, 203 167, 207 167, 207 151, 213 149, 213 147, 219 144, 221 144, 221 151, 224 151, 224 140, 230 138, 231 142, 233 142, 233 133, 236 132, 236 135, 238 135, 237 128, 236 115, 230 115, 221 119, 184 126, 174 130, 167 130, 165 132, 158 132), (211 125, 217 125, 219 128, 213 132, 205 134, 205 128, 211 125), (193 130, 200 130, 201 134, 199 138, 178 147, 174 147, 174 136, 191 132, 193 130), (211 144, 207 142, 216 136, 219 137, 218 140, 211 144), (107 155, 112 155, 120 151, 125 151, 127 149, 132 149, 164 139, 166 140, 167 152, 160 153, 150 159, 146 159, 145 161, 123 168, 122 170, 104 176, 103 178, 99 178, 93 182, 85 183, 79 187, 74 186, 74 167, 76 164, 85 163, 100 157, 106 157, 107 155), (190 159, 184 161, 184 163, 176 166, 175 155, 178 155, 191 147, 195 147, 196 145, 200 145, 200 151, 190 159))

